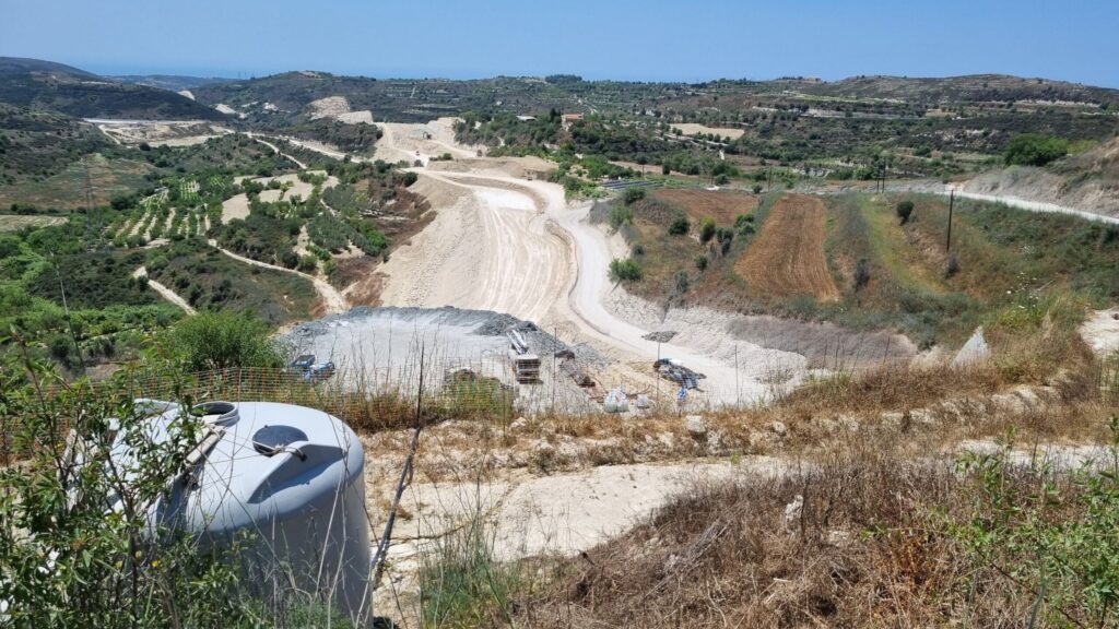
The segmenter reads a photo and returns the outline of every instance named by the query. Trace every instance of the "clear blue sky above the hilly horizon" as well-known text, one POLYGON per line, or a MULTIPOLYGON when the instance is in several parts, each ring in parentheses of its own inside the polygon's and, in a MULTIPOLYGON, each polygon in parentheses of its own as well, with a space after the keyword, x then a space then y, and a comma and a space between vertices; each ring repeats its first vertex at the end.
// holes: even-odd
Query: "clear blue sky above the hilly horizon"
POLYGON ((1119 87, 1119 0, 0 0, 0 56, 103 74, 1006 73, 1119 87))

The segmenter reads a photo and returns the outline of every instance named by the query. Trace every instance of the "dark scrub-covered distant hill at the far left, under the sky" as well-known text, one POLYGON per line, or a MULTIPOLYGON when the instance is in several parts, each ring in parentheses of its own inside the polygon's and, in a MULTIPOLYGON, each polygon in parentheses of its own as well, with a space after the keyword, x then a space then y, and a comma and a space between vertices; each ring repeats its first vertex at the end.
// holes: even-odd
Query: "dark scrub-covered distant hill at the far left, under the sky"
POLYGON ((63 64, 0 57, 0 102, 76 118, 224 120, 186 96, 128 85, 63 64))

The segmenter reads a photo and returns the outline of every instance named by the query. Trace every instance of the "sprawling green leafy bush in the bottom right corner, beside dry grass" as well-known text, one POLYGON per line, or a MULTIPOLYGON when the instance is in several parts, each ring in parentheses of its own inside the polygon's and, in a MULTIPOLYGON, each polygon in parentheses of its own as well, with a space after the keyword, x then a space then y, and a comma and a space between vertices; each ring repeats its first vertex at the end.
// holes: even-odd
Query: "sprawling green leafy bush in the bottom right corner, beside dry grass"
POLYGON ((1119 626, 1119 417, 1111 431, 1110 447, 1072 471, 1016 463, 1013 431, 999 450, 960 460, 977 485, 975 517, 950 531, 968 558, 1035 601, 1029 627, 1119 626))

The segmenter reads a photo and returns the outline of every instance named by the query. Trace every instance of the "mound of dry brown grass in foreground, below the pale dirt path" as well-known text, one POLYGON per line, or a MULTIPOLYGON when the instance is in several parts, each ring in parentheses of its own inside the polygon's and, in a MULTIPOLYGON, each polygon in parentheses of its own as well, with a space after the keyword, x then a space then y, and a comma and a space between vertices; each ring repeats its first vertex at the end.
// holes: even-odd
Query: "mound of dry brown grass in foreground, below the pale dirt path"
MULTIPOLYGON (((1006 478, 1024 490, 1036 481, 1028 472, 1006 478)), ((979 560, 967 552, 968 534, 955 531, 972 509, 1000 513, 950 461, 848 442, 796 473, 690 488, 624 536, 552 566, 551 586, 521 594, 517 623, 1034 626, 1032 585, 999 565, 1013 555, 979 560)), ((1050 516, 1084 517, 1082 503, 1060 511, 1050 516)), ((1037 627, 1076 613, 1044 608, 1037 627)))

